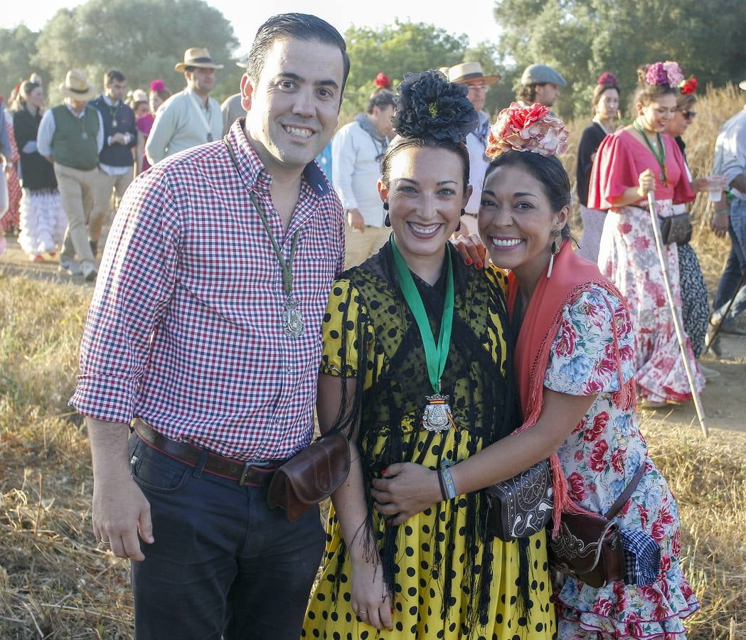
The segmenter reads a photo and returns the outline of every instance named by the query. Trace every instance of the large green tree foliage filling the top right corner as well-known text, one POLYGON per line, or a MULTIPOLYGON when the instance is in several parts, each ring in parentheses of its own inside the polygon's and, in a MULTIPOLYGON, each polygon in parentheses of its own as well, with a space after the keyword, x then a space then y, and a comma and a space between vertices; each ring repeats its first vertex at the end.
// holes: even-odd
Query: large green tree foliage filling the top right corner
POLYGON ((677 60, 702 85, 721 86, 743 74, 742 0, 496 0, 502 27, 498 52, 525 66, 555 66, 568 81, 557 110, 590 112, 595 79, 604 71, 620 83, 623 104, 642 63, 677 60))

